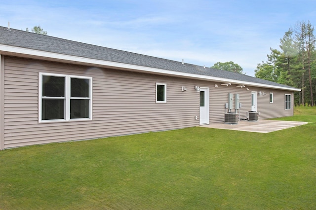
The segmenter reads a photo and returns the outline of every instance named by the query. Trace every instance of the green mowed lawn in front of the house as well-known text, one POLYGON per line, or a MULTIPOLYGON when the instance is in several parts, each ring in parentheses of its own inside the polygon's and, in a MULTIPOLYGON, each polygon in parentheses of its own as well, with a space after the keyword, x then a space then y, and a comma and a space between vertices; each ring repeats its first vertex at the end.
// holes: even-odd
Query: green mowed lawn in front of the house
POLYGON ((0 151, 0 209, 314 209, 316 109, 268 134, 186 128, 0 151))

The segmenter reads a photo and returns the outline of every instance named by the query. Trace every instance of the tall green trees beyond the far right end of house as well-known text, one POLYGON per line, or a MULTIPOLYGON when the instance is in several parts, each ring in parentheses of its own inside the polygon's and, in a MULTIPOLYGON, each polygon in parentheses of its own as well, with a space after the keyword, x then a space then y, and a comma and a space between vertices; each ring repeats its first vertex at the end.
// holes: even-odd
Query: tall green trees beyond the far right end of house
POLYGON ((315 106, 316 37, 310 21, 298 22, 285 32, 279 48, 270 48, 267 61, 257 65, 255 76, 301 89, 295 104, 315 106))

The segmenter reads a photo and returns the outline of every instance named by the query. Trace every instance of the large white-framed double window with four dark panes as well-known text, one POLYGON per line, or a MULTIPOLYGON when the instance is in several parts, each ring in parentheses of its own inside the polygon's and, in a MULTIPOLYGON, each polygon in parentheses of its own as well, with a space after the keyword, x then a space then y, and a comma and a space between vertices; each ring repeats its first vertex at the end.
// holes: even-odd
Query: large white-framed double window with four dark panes
POLYGON ((39 122, 92 119, 92 77, 41 73, 39 122))

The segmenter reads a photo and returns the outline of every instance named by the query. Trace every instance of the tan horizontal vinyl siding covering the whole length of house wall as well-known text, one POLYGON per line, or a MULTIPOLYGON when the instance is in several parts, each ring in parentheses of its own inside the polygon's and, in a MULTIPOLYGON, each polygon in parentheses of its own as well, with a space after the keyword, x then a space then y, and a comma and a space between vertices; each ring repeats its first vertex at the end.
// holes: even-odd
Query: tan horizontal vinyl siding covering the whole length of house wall
POLYGON ((228 93, 239 94, 241 118, 250 111, 251 91, 266 93, 257 97, 259 118, 293 115, 294 96, 289 91, 250 86, 247 91, 236 87, 240 84, 221 86, 219 82, 8 56, 2 56, 1 60, 0 72, 4 78, 1 142, 4 148, 198 126, 199 92, 194 89, 195 85, 209 88, 210 123, 224 121, 228 93), (39 123, 39 72, 91 76, 92 120, 39 123), (167 85, 165 104, 156 103, 157 82, 167 85), (187 91, 182 92, 182 86, 187 91), (269 102, 270 92, 274 93, 273 104, 269 102), (285 94, 292 95, 290 110, 284 108, 285 94))

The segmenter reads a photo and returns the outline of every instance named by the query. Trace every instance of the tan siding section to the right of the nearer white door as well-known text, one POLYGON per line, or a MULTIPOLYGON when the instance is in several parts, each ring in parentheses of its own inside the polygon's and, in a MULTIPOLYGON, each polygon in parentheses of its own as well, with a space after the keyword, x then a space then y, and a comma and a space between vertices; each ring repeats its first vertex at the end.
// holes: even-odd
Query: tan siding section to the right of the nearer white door
POLYGON ((246 112, 251 110, 251 91, 265 92, 266 95, 257 95, 257 111, 260 112, 259 119, 276 118, 291 116, 294 114, 294 94, 290 91, 273 90, 267 88, 257 88, 247 86, 245 88, 230 86, 221 86, 219 82, 202 82, 200 86, 210 87, 210 123, 224 122, 224 114, 228 112, 225 109, 225 103, 228 102, 228 93, 233 93, 233 109, 231 112, 239 114, 239 118, 246 118, 246 112), (215 84, 218 87, 215 87, 215 84), (248 88, 248 91, 247 89, 248 88), (239 103, 241 108, 235 110, 235 94, 239 94, 239 103), (270 104, 270 93, 273 93, 273 104, 270 104), (285 110, 285 94, 291 94, 291 109, 285 110))

